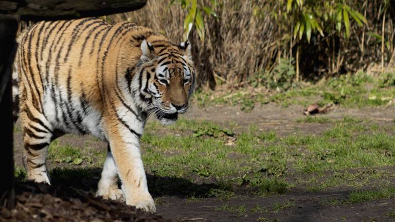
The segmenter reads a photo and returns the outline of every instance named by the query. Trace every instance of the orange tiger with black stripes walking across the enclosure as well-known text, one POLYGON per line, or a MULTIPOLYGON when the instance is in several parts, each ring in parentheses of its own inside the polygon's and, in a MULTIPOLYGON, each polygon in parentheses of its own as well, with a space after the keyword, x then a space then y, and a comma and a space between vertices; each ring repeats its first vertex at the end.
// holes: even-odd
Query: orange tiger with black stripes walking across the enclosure
POLYGON ((90 134, 108 144, 96 195, 156 212, 139 141, 149 117, 169 125, 187 112, 195 85, 189 41, 88 17, 36 23, 17 42, 14 120, 22 122, 27 178, 50 184, 50 142, 90 134))

